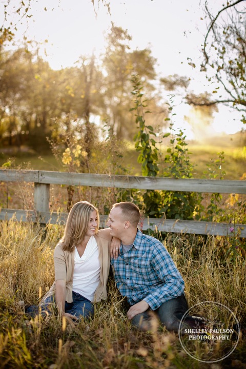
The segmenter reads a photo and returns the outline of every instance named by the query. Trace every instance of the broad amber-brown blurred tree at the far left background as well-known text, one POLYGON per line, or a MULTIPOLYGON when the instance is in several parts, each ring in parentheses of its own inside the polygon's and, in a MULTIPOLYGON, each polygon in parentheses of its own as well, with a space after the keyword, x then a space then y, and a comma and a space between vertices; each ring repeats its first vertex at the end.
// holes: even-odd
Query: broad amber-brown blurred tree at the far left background
POLYGON ((1 48, 1 121, 9 145, 24 140, 32 147, 46 144, 52 118, 61 114, 58 94, 60 71, 53 71, 43 59, 25 47, 15 51, 1 48), (13 142, 15 137, 15 142, 13 142), (38 142, 37 142, 38 141, 38 142))

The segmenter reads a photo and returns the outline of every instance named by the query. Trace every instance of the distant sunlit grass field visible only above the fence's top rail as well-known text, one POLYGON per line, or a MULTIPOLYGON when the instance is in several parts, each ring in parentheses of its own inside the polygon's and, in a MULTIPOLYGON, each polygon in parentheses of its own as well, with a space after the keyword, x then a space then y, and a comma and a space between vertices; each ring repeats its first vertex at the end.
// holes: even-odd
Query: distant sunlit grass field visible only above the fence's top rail
MULTIPOLYGON (((168 140, 166 140, 168 145, 168 140)), ((193 176, 195 178, 204 178, 204 171, 211 166, 211 160, 218 159, 218 153, 224 152, 224 163, 222 170, 226 172, 224 179, 240 179, 246 172, 246 146, 245 132, 235 135, 224 135, 212 137, 210 140, 203 142, 188 141, 188 148, 191 152, 190 160, 194 165, 193 176)), ((162 157, 165 156, 167 146, 161 147, 162 157)), ((141 175, 141 167, 137 162, 138 153, 134 148, 133 142, 126 142, 125 150, 122 152, 122 158, 119 159, 122 167, 127 169, 129 175, 141 175)), ((16 167, 29 168, 35 170, 65 171, 61 162, 57 162, 53 154, 38 154, 34 150, 23 148, 17 152, 15 148, 7 152, 0 150, 0 166, 5 163, 8 158, 14 160, 16 167), (11 152, 14 156, 11 157, 11 152)), ((165 169, 165 163, 159 163, 160 171, 165 169)))

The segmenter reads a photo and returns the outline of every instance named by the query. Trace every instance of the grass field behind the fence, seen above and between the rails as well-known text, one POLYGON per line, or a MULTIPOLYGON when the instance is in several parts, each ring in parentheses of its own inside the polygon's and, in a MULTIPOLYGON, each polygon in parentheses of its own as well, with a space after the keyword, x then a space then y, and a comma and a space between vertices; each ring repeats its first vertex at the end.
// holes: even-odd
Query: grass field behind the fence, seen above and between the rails
MULTIPOLYGON (((246 146, 244 145, 242 134, 224 136, 214 138, 213 144, 209 141, 203 142, 198 145, 197 142, 189 143, 190 160, 194 165, 193 176, 194 178, 210 178, 208 175, 209 168, 213 171, 217 166, 216 172, 219 178, 219 163, 216 163, 218 159, 218 153, 224 152, 224 162, 221 165, 221 171, 224 171, 224 179, 244 179, 246 173, 246 146), (207 174, 204 172, 207 171, 207 174)), ((165 156, 165 148, 162 149, 162 157, 165 156)), ((116 157, 116 164, 114 166, 107 158, 107 153, 101 153, 98 158, 95 158, 95 162, 90 168, 91 173, 105 173, 113 174, 119 168, 125 168, 126 172, 119 171, 121 174, 128 175, 141 175, 141 167, 137 162, 138 153, 134 149, 134 144, 131 142, 126 143, 125 151, 122 152, 122 157, 116 157), (105 157, 106 155, 106 157, 105 157), (111 167, 110 167, 111 166, 111 167)), ((34 170, 49 170, 49 171, 66 171, 61 161, 57 161, 52 153, 43 153, 38 155, 34 151, 26 152, 25 150, 20 153, 16 153, 15 157, 8 157, 5 154, 0 156, 0 166, 5 162, 11 160, 11 166, 7 168, 11 169, 34 169, 34 170)), ((113 161, 113 160, 111 160, 113 161)), ((167 164, 160 161, 159 168, 161 171, 165 170, 167 164)), ((117 172, 118 173, 118 172, 117 172)), ((161 174, 160 174, 161 175, 161 174)), ((106 189, 107 190, 107 189, 106 189)), ((63 186, 51 186, 50 188, 50 204, 52 210, 66 211, 67 204, 67 189, 63 186)), ((95 201, 99 207, 103 207, 104 203, 115 202, 111 198, 112 194, 104 191, 103 197, 98 198, 95 193, 96 189, 78 188, 74 189, 73 200, 78 201, 81 198, 88 198, 89 201, 95 201), (111 196, 111 197, 110 197, 111 196)), ((226 196, 228 197, 228 196, 226 196)), ((245 196, 241 195, 238 201, 241 201, 245 196)), ((25 186, 23 183, 0 183, 0 206, 3 208, 11 209, 33 209, 33 184, 29 183, 25 186)), ((102 212, 104 214, 104 211, 102 212)))

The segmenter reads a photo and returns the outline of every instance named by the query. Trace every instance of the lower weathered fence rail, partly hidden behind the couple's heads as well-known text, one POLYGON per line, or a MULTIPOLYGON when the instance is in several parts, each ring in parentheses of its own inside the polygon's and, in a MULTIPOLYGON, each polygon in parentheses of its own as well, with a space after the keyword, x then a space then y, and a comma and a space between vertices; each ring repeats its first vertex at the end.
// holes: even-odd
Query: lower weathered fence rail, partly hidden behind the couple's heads
MULTIPOLYGON (((13 209, 2 209, 0 212, 0 220, 9 220, 13 216, 17 221, 33 221, 37 219, 40 223, 46 224, 65 224, 68 214, 67 213, 49 213, 13 209)), ((100 227, 106 227, 108 216, 100 215, 100 227)), ((202 222, 193 220, 173 220, 173 219, 155 219, 144 218, 141 220, 141 229, 155 230, 157 228, 160 232, 171 233, 192 233, 203 235, 215 235, 215 236, 228 236, 230 232, 230 224, 227 223, 215 223, 215 222, 202 222)), ((235 224, 235 233, 238 233, 238 237, 246 237, 246 225, 235 224)))

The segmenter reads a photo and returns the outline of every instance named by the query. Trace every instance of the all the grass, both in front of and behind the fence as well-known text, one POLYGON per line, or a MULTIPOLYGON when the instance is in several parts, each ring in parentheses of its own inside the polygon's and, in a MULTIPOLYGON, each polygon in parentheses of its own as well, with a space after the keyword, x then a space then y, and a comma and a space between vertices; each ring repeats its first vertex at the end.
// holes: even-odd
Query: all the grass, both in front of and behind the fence
MULTIPOLYGON (((202 145, 191 142, 194 177, 202 178, 210 160, 216 160, 218 152, 224 151, 222 170, 226 172, 225 178, 242 178, 246 172, 246 152, 239 138, 235 136, 231 141, 227 137, 223 142, 219 138, 212 144, 202 145)), ((123 154, 120 165, 127 168, 127 174, 141 175, 134 145, 128 143, 123 154)), ((0 165, 7 160, 8 156, 2 154, 0 165)), ((99 164, 100 160, 98 158, 99 164)), ((162 165, 160 163, 160 167, 162 165)), ((65 171, 52 154, 39 156, 35 152, 16 154, 11 168, 65 171)), ((90 189, 90 193, 85 191, 75 189, 73 200, 90 200, 93 195, 93 199, 99 198, 102 204, 106 200, 112 203, 107 189, 105 193, 97 189, 90 189)), ((1 183, 0 203, 4 208, 32 209, 33 184, 1 183)), ((66 211, 66 188, 59 186, 57 190, 51 186, 50 203, 51 209, 58 207, 59 211, 66 211)), ((241 212, 239 208, 237 211, 241 212)), ((233 339, 211 346, 208 342, 190 342, 186 338, 188 354, 178 335, 168 332, 165 327, 153 325, 153 331, 148 333, 134 329, 122 310, 111 279, 108 299, 96 306, 91 320, 74 324, 60 320, 56 315, 28 319, 17 302, 38 303, 53 283, 53 250, 63 232, 64 227, 58 225, 44 228, 39 224, 14 220, 0 222, 0 368, 246 368, 244 239, 238 239, 236 235, 156 235, 167 247, 185 279, 189 305, 212 301, 227 306, 237 317, 241 331, 235 350, 220 360, 224 352, 230 351, 235 342, 233 339)), ((209 315, 207 310, 199 313, 205 317, 209 315)))

